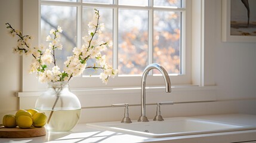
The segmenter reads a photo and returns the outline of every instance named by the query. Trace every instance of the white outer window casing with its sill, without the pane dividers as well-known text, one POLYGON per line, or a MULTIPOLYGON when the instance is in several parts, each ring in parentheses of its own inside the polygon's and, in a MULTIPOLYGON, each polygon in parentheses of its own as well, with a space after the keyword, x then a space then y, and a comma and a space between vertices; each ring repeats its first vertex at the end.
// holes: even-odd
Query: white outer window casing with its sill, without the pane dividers
MULTIPOLYGON (((199 102, 217 101, 217 86, 215 86, 212 78, 213 74, 208 70, 205 70, 204 66, 204 0, 193 0, 189 2, 191 7, 187 7, 186 14, 187 20, 189 21, 189 23, 186 24, 186 29, 189 27, 189 30, 186 30, 186 41, 188 41, 186 53, 190 54, 186 55, 186 58, 183 57, 185 58, 186 62, 191 61, 191 64, 186 64, 186 69, 191 69, 191 77, 188 78, 189 82, 180 82, 179 79, 174 78, 175 76, 171 76, 172 92, 171 95, 166 95, 163 87, 164 79, 159 78, 161 81, 159 84, 160 86, 156 87, 157 85, 154 85, 154 87, 147 87, 146 89, 147 105, 155 105, 155 103, 159 101, 174 101, 180 103, 194 102, 196 104, 199 102)), ((32 45, 38 45, 39 43, 38 14, 39 0, 23 0, 23 33, 35 35, 32 45)), ((43 91, 45 91, 45 88, 47 87, 46 84, 44 84, 44 89, 40 88, 42 83, 38 82, 35 74, 31 75, 27 72, 31 60, 32 58, 23 57, 21 61, 21 90, 17 93, 17 97, 19 98, 19 108, 33 108, 36 99, 43 91)), ((156 83, 155 79, 152 79, 152 77, 153 76, 147 77, 147 86, 150 85, 150 82, 156 83)), ((129 77, 130 85, 124 87, 111 86, 112 82, 115 82, 115 79, 110 80, 109 88, 107 86, 104 86, 104 88, 84 88, 86 85, 81 85, 81 88, 75 89, 72 87, 73 82, 74 80, 71 80, 71 91, 77 95, 81 101, 81 106, 83 109, 105 109, 105 107, 111 107, 112 104, 124 102, 134 106, 140 105, 140 81, 137 83, 131 77, 129 77)), ((76 82, 82 83, 83 81, 78 80, 76 82)), ((100 85, 104 85, 101 82, 98 83, 100 85)))

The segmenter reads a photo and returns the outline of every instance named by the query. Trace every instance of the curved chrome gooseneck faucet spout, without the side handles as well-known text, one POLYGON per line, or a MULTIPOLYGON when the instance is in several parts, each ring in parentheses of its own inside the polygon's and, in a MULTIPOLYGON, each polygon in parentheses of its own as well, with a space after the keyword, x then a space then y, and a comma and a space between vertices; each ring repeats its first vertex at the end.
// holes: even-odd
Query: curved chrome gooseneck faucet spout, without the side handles
POLYGON ((161 74, 164 77, 165 80, 165 91, 166 92, 171 92, 171 81, 169 79, 168 73, 166 72, 166 70, 164 69, 164 67, 162 67, 159 64, 149 64, 149 66, 147 66, 142 74, 142 79, 141 79, 141 116, 138 119, 138 122, 149 122, 149 120, 147 120, 146 117, 146 78, 147 78, 147 74, 149 73, 150 70, 152 69, 157 69, 161 72, 161 74))

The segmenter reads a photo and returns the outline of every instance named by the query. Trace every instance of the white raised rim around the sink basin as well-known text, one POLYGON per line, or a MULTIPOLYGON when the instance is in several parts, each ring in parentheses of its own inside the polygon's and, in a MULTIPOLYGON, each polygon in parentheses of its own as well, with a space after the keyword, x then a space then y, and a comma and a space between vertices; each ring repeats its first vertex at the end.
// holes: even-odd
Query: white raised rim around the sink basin
POLYGON ((165 120, 161 121, 161 122, 153 121, 153 120, 150 120, 150 122, 137 122, 137 120, 132 120, 131 124, 124 124, 124 123, 115 121, 115 122, 87 123, 87 125, 91 126, 91 127, 95 127, 95 128, 131 133, 133 135, 149 136, 149 137, 153 137, 153 138, 184 136, 184 135, 199 135, 199 134, 206 134, 206 133, 221 133, 221 132, 233 132, 233 131, 256 129, 256 126, 240 125, 240 124, 227 123, 227 122, 218 122, 218 121, 213 121, 213 120, 197 119, 197 118, 193 118, 193 117, 170 117, 170 118, 165 118, 165 120), (149 132, 141 132, 138 130, 113 127, 114 125, 131 125, 131 124, 134 125, 134 124, 148 124, 148 123, 161 123, 161 122, 163 123, 163 122, 171 122, 171 120, 195 120, 198 122, 208 122, 208 123, 215 123, 215 124, 217 123, 219 125, 220 124, 232 125, 232 126, 237 126, 237 127, 224 128, 224 129, 197 130, 197 131, 189 131, 189 132, 172 132, 172 133, 149 133, 149 132))

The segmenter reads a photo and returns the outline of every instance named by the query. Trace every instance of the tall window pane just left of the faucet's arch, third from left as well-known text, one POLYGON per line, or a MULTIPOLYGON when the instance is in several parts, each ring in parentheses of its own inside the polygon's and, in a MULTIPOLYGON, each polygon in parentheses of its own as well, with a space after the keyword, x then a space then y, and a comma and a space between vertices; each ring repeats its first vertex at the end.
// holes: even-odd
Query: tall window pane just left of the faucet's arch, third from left
POLYGON ((142 74, 148 62, 148 12, 119 10, 119 74, 142 74))

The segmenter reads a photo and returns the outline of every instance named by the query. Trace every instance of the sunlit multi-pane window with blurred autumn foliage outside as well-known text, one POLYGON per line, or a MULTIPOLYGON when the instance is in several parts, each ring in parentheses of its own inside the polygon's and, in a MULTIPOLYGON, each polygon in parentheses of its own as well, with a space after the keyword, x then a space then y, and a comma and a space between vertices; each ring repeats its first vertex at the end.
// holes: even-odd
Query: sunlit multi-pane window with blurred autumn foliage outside
MULTIPOLYGON (((186 33, 191 28, 190 21, 186 21, 189 14, 185 4, 190 5, 190 1, 41 0, 39 41, 44 43, 50 29, 60 25, 66 50, 58 56, 65 61, 73 47, 82 45, 82 36, 87 33, 87 24, 96 8, 105 24, 100 38, 113 41, 113 48, 105 53, 107 61, 119 70, 119 75, 104 85, 95 77, 97 72, 85 71, 82 77, 70 81, 72 88, 140 86, 140 76, 150 63, 165 67, 172 85, 190 84, 191 55, 186 51, 190 51, 191 43, 186 40, 186 33)), ((163 85, 158 71, 153 70, 150 75, 147 85, 163 85)))

